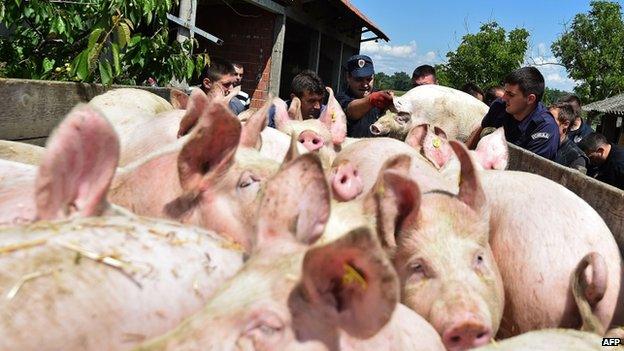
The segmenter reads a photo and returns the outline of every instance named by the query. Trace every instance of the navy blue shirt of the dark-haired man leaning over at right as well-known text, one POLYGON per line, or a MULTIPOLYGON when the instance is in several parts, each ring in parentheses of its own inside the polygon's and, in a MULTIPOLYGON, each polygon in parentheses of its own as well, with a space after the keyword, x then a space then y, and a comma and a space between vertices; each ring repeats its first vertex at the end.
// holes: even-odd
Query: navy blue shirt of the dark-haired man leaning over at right
POLYGON ((505 111, 505 102, 498 99, 483 117, 481 127, 504 127, 508 142, 554 161, 559 147, 559 127, 541 102, 522 121, 505 111))

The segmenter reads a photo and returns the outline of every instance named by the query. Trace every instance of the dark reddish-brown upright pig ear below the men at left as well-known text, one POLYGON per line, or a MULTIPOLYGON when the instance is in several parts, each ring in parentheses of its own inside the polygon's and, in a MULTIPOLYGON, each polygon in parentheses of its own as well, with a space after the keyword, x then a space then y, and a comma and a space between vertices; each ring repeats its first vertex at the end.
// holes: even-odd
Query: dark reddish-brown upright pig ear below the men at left
POLYGON ((205 175, 222 176, 234 163, 240 133, 240 122, 225 102, 211 103, 178 156, 182 188, 203 191, 205 175))

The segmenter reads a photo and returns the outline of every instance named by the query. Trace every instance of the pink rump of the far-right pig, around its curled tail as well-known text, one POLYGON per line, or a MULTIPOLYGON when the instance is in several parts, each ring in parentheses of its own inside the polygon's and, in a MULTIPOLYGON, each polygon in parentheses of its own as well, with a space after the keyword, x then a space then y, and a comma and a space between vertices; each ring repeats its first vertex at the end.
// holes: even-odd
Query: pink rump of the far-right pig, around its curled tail
POLYGON ((518 171, 481 172, 490 202, 490 245, 505 285, 500 337, 580 324, 570 277, 588 253, 600 253, 608 282, 594 313, 605 326, 624 324, 618 296, 623 267, 613 234, 583 199, 547 178, 518 171))

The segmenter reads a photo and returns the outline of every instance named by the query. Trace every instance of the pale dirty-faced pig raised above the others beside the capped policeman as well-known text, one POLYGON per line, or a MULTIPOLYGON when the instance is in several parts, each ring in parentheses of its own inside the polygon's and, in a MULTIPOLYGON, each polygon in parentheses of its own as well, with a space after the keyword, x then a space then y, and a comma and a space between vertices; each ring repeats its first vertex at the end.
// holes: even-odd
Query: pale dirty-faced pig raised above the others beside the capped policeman
POLYGON ((395 97, 390 111, 371 125, 373 135, 404 140, 417 122, 442 128, 450 139, 466 141, 481 125, 488 106, 463 91, 441 85, 421 85, 395 97))

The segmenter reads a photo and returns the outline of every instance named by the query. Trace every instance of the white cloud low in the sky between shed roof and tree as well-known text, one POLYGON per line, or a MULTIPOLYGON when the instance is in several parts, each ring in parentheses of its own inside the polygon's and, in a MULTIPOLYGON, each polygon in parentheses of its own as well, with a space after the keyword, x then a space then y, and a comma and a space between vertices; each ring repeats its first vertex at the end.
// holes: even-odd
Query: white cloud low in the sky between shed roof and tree
POLYGON ((421 54, 415 41, 407 44, 390 45, 367 41, 362 43, 360 52, 373 59, 376 72, 393 74, 406 72, 411 75, 414 68, 423 64, 436 64, 442 62, 435 51, 421 54))

